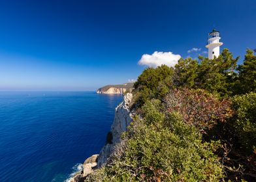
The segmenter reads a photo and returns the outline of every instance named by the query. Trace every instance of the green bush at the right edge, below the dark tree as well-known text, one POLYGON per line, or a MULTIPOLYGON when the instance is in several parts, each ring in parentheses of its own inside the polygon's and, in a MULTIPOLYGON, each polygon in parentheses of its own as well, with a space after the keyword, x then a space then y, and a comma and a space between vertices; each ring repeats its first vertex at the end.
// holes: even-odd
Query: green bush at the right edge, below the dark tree
POLYGON ((240 144, 256 153, 256 93, 234 96, 232 108, 235 110, 232 127, 240 144))

